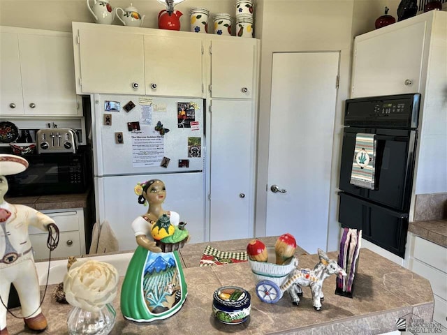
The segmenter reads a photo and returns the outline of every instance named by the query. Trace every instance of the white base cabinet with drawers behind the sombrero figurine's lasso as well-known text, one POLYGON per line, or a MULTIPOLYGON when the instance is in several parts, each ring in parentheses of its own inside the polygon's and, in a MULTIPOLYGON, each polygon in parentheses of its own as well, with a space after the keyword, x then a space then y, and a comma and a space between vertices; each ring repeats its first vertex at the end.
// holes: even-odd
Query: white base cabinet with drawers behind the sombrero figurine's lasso
MULTIPOLYGON (((59 228, 59 244, 51 253, 51 258, 64 258, 85 254, 85 228, 83 209, 59 209, 42 211, 50 216, 59 228)), ((34 250, 34 259, 49 258, 47 248, 48 233, 29 226, 29 239, 34 250)))

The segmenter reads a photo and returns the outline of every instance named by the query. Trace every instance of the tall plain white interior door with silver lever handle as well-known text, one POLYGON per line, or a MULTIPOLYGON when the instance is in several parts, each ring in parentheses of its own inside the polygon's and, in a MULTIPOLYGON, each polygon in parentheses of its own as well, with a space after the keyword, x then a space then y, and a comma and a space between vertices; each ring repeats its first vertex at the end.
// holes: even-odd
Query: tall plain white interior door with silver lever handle
POLYGON ((338 52, 273 55, 266 233, 309 253, 327 242, 338 64, 338 52))

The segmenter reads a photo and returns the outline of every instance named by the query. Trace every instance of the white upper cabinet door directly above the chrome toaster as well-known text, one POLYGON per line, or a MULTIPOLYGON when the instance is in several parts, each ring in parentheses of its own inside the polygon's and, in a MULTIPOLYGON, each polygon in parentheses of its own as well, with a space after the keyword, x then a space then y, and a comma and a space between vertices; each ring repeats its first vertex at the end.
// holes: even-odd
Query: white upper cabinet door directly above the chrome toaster
POLYGON ((19 35, 25 115, 76 116, 71 36, 19 35))

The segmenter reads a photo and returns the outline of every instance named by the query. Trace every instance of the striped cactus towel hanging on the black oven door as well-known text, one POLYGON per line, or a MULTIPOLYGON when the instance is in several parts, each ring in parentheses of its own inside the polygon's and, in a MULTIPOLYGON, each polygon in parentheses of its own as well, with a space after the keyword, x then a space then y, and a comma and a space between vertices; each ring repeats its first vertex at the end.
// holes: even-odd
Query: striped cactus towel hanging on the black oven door
POLYGON ((352 162, 350 184, 374 190, 376 140, 374 134, 358 133, 352 162))

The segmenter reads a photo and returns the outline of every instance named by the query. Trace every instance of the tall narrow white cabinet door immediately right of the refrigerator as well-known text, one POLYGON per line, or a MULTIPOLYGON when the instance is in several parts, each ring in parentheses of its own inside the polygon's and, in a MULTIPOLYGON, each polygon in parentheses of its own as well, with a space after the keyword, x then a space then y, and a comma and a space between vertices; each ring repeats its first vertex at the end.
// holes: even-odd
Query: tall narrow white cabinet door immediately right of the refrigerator
POLYGON ((212 101, 211 241, 253 237, 254 141, 251 101, 212 101))

